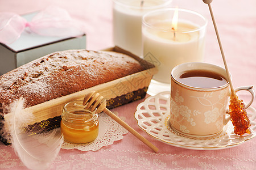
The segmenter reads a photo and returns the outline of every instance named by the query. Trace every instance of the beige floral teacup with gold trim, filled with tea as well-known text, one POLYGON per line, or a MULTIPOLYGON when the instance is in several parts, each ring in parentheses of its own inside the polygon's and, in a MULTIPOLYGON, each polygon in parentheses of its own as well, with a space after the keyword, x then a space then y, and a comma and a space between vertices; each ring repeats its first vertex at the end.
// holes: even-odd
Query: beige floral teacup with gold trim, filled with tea
MULTIPOLYGON (((247 90, 252 95, 245 108, 253 103, 252 88, 239 87, 235 90, 247 90)), ((230 120, 230 95, 226 70, 222 67, 203 62, 183 63, 174 67, 171 71, 171 128, 177 133, 195 138, 213 137, 222 133, 230 120), (197 74, 199 79, 195 78, 197 74)))

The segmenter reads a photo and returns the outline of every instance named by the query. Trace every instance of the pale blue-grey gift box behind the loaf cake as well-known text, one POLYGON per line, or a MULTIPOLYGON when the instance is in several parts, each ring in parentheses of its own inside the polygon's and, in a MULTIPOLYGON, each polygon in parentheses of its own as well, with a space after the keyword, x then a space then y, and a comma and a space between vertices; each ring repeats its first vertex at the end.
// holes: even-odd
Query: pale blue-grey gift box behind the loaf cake
MULTIPOLYGON (((37 14, 22 15, 28 22, 37 14)), ((86 35, 76 37, 40 36, 25 28, 20 37, 11 44, 0 43, 0 75, 46 54, 68 50, 85 49, 86 35)))

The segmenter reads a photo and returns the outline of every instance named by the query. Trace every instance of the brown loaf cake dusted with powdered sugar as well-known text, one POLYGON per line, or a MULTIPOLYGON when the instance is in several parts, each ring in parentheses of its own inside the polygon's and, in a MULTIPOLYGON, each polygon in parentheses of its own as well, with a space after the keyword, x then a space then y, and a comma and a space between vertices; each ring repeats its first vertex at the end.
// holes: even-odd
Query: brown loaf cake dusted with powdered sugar
POLYGON ((35 59, 0 76, 0 113, 23 97, 31 107, 144 70, 125 54, 65 50, 35 59))

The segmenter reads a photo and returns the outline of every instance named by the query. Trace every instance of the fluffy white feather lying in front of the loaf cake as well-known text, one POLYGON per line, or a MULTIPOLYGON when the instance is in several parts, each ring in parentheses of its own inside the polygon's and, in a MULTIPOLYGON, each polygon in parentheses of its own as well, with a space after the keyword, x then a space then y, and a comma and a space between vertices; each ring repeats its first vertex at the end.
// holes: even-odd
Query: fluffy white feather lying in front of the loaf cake
POLYGON ((11 143, 22 160, 30 169, 47 169, 59 154, 63 143, 63 135, 59 129, 43 132, 42 129, 32 128, 31 131, 24 128, 28 120, 34 118, 32 113, 24 112, 23 99, 15 102, 11 109, 11 119, 6 121, 11 135, 11 143))

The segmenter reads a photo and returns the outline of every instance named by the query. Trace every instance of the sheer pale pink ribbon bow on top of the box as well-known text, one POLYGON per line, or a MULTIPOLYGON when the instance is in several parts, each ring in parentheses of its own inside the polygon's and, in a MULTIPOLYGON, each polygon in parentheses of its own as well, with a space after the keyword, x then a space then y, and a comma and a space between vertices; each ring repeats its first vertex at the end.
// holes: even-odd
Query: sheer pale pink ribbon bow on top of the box
POLYGON ((38 12, 31 22, 12 12, 0 12, 0 42, 3 44, 16 41, 26 27, 42 36, 76 37, 84 33, 80 25, 60 7, 47 7, 38 12))

